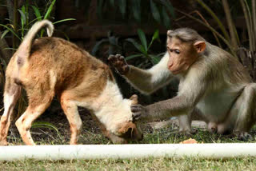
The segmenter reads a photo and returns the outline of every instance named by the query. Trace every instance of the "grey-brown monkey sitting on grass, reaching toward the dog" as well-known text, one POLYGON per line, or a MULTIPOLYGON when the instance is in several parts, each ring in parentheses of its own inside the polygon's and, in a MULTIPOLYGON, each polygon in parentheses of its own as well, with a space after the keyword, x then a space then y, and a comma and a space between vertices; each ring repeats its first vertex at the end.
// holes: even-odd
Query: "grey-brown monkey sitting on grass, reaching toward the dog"
POLYGON ((206 42, 195 30, 167 31, 166 54, 157 65, 142 70, 110 55, 110 63, 130 85, 152 93, 178 78, 177 96, 151 105, 132 105, 134 119, 153 121, 179 116, 180 131, 193 133, 191 121, 206 121, 210 132, 251 138, 255 122, 256 84, 230 53, 206 42))

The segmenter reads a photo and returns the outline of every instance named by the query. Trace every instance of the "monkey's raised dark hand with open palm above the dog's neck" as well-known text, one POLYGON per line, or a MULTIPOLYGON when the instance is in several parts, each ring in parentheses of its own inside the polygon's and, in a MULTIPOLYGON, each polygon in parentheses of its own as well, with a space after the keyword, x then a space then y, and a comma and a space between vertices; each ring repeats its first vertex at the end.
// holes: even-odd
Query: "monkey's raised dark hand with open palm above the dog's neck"
POLYGON ((127 64, 125 58, 121 56, 121 54, 110 55, 108 60, 119 74, 126 75, 130 71, 130 66, 127 64))

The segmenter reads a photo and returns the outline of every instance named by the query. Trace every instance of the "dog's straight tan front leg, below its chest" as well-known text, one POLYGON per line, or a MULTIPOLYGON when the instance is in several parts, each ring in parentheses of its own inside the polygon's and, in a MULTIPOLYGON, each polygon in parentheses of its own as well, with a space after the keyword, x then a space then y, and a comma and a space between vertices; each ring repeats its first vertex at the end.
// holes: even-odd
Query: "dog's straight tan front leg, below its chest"
POLYGON ((66 114, 66 118, 70 123, 70 145, 76 145, 78 142, 78 136, 82 129, 82 120, 78 113, 78 106, 74 101, 71 101, 69 97, 62 94, 60 98, 62 109, 66 114))

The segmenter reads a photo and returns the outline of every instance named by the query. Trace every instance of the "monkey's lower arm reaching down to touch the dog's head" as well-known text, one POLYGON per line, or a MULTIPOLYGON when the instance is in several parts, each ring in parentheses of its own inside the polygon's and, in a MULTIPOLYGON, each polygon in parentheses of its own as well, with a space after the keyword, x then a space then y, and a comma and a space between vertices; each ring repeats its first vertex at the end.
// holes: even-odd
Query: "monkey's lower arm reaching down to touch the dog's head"
POLYGON ((207 85, 207 81, 202 77, 202 74, 199 74, 199 76, 193 75, 196 78, 192 80, 192 77, 190 78, 192 75, 188 75, 187 80, 182 82, 182 89, 176 97, 147 106, 132 105, 131 110, 134 119, 153 121, 154 119, 165 119, 188 113, 206 92, 207 85))

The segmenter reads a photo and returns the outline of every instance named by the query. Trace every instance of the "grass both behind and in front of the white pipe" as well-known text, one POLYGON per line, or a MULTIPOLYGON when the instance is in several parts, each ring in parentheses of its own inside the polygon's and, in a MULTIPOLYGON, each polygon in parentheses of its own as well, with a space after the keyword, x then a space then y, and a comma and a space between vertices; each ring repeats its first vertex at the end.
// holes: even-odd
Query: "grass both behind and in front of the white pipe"
MULTIPOLYGON (((79 138, 80 144, 112 144, 106 137, 103 137, 98 127, 89 119, 83 119, 84 126, 82 135, 79 138)), ((34 141, 38 145, 63 145, 69 143, 69 125, 65 121, 55 125, 58 127, 60 135, 51 129, 31 129, 34 141)), ((144 139, 139 144, 158 143, 179 143, 190 137, 175 133, 176 128, 166 127, 163 129, 151 129, 146 125, 142 127, 144 139), (175 129, 175 130, 174 130, 175 129)), ((251 130, 256 142, 256 128, 251 130)), ((203 143, 225 143, 244 142, 236 137, 220 136, 208 133, 206 129, 198 129, 194 134, 198 142, 203 143)), ((8 137, 10 145, 22 145, 22 141, 14 126, 10 129, 8 137)), ((0 162, 0 170, 256 170, 255 157, 230 158, 226 160, 206 160, 197 157, 184 158, 147 158, 132 160, 73 160, 73 161, 11 161, 0 162)))

